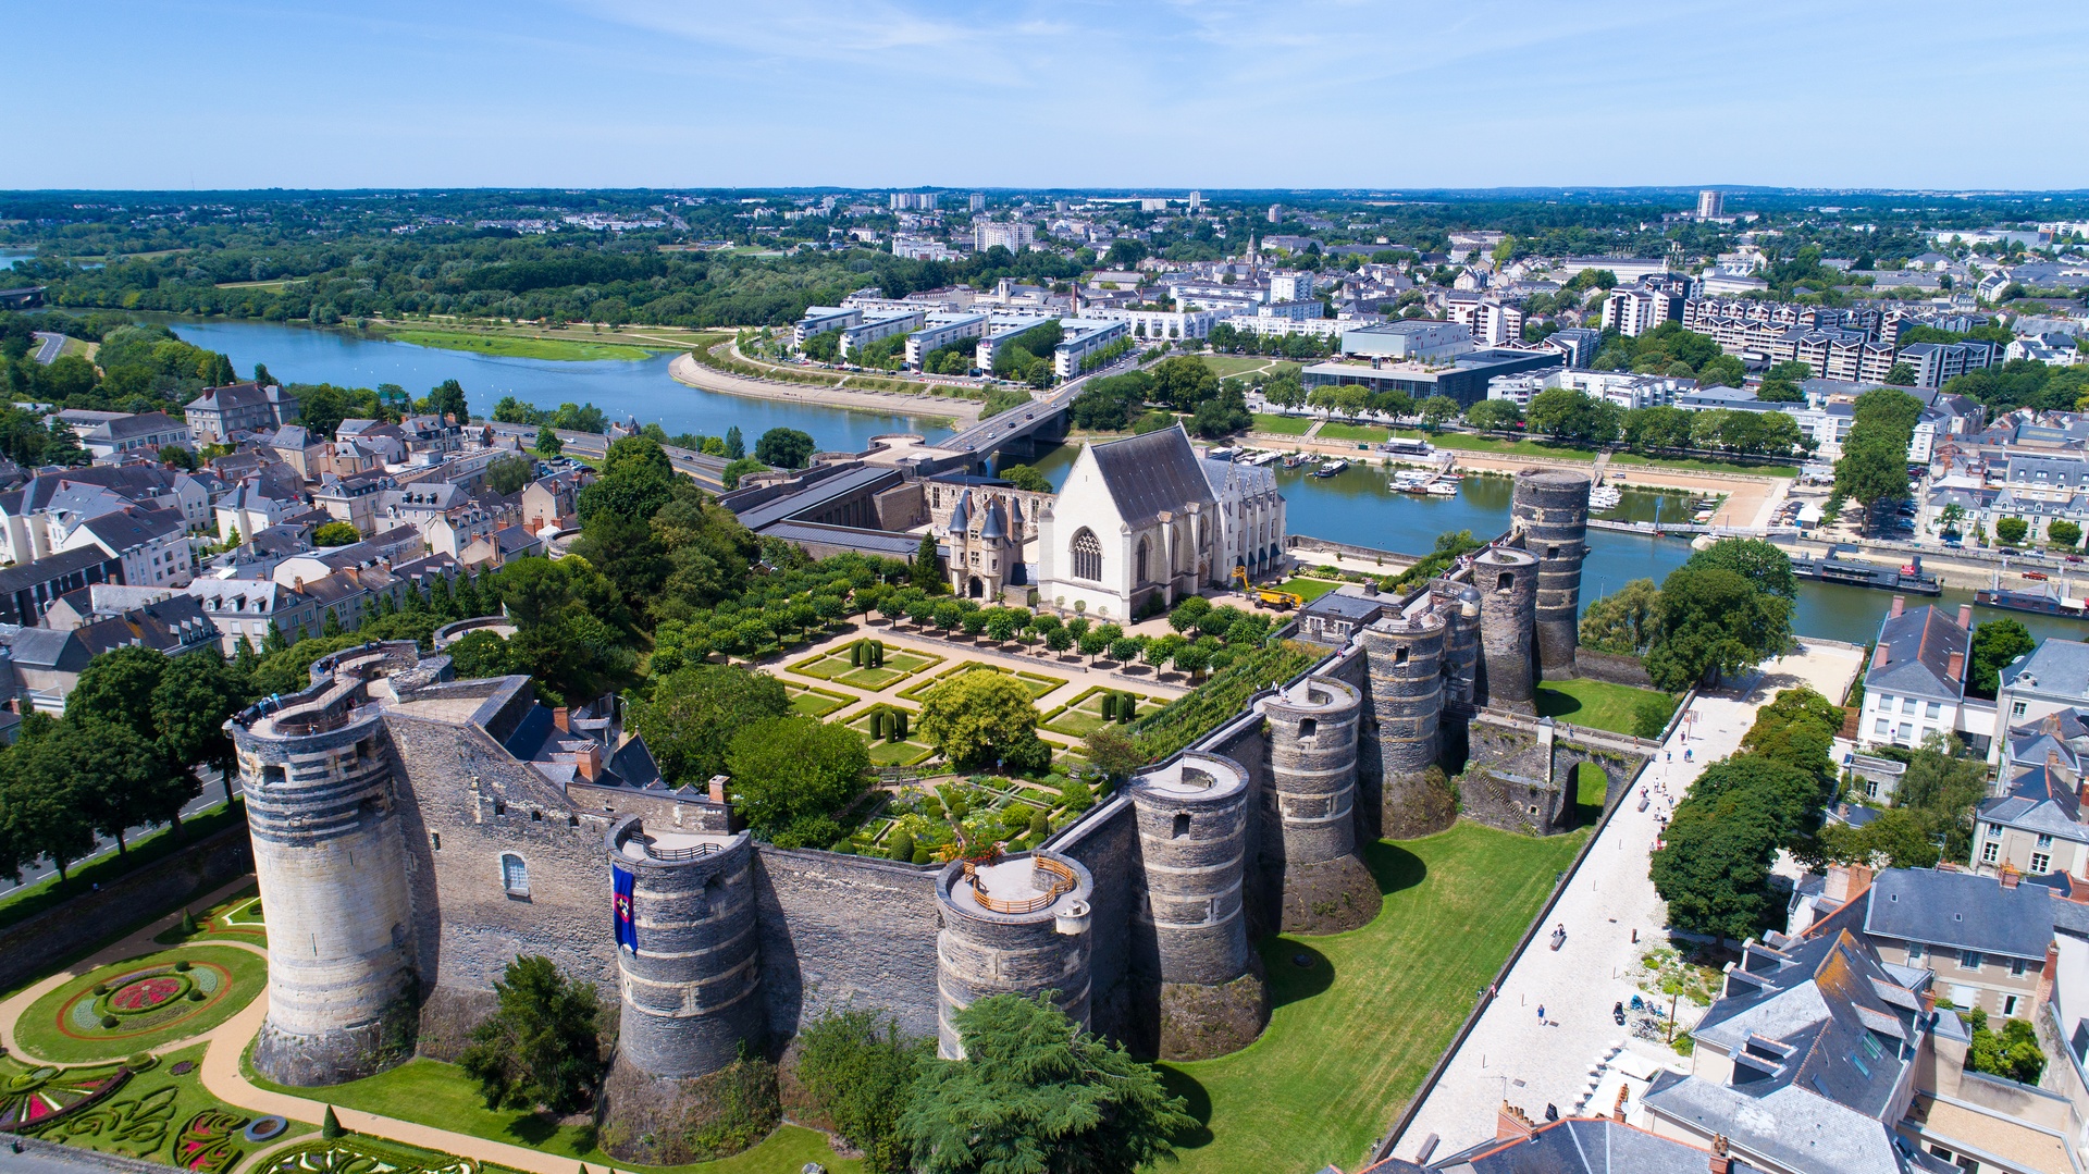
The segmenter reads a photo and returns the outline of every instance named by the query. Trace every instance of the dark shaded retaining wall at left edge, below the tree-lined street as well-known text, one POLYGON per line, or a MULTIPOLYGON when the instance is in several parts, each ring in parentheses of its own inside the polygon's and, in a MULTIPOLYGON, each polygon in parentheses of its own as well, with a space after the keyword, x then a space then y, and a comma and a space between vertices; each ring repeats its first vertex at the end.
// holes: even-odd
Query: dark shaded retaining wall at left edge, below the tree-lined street
POLYGON ((247 825, 226 827, 0 930, 0 990, 21 986, 69 957, 251 871, 247 825))

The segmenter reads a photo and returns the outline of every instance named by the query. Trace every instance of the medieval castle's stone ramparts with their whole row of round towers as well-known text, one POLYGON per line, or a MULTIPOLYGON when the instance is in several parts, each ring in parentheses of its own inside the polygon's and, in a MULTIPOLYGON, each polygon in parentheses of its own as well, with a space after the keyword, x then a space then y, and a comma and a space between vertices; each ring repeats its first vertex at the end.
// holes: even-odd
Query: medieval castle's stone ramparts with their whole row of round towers
POLYGON ((1268 1019, 1253 938, 1377 915, 1360 840, 1460 811, 1563 831, 1577 762, 1617 796, 1646 754, 1535 719, 1538 681, 1577 671, 1588 493, 1519 474, 1510 533, 1456 574, 1387 595, 1044 848, 976 867, 756 844, 723 781, 671 790, 614 717, 551 710, 526 677, 457 681, 412 643, 334 654, 232 721, 269 911, 253 1063, 311 1086, 455 1055, 516 955, 618 992, 610 1118, 620 1088, 704 1076, 829 1005, 942 1055, 950 1013, 994 992, 1055 992, 1149 1055, 1245 1047, 1268 1019))

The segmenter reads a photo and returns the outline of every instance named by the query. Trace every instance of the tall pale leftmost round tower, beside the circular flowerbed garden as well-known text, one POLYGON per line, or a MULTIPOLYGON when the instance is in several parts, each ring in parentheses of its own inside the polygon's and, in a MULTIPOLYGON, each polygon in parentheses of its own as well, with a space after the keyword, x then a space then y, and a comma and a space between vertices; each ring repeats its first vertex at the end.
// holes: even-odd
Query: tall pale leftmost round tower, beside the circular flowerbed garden
POLYGON ((414 1051, 414 902, 372 700, 326 675, 230 723, 272 946, 253 1063, 278 1084, 341 1084, 414 1051))

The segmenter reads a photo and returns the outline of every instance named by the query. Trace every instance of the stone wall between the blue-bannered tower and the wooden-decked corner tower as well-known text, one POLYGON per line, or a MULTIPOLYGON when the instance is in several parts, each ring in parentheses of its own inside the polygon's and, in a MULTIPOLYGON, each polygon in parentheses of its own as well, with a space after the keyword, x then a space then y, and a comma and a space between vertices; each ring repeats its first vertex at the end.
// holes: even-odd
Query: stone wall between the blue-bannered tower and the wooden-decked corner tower
POLYGON ((882 1007, 936 1034, 932 869, 756 844, 754 913, 775 1040, 825 1007, 882 1007))

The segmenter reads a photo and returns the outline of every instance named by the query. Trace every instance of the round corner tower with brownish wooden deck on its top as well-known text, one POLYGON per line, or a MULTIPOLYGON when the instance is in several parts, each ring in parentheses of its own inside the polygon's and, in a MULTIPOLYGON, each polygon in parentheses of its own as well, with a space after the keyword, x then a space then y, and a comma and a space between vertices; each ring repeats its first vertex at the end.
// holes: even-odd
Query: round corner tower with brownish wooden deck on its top
POLYGON ((963 1059, 955 1015, 988 994, 1036 996, 1088 1026, 1088 902, 1095 877, 1072 856, 1017 852, 953 861, 936 877, 936 1055, 963 1059))

